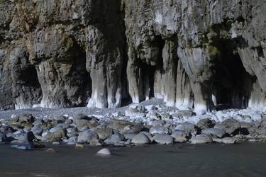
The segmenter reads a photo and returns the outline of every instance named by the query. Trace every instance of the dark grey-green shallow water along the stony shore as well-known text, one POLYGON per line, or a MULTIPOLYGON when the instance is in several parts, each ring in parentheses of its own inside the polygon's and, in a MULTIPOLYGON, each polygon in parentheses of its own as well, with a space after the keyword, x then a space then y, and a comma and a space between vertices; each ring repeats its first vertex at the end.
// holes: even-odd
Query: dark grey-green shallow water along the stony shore
POLYGON ((21 152, 0 146, 0 176, 266 176, 266 144, 204 144, 110 147, 52 147, 21 152))

